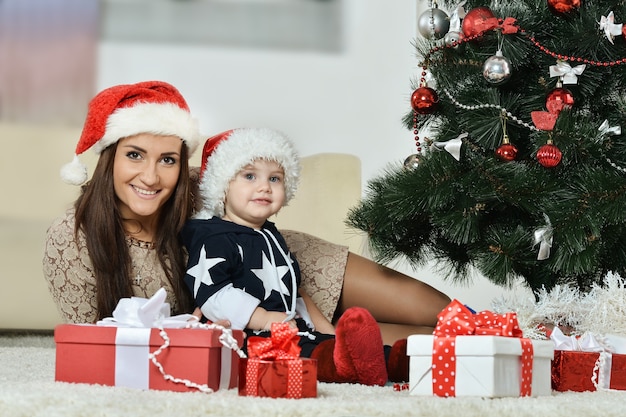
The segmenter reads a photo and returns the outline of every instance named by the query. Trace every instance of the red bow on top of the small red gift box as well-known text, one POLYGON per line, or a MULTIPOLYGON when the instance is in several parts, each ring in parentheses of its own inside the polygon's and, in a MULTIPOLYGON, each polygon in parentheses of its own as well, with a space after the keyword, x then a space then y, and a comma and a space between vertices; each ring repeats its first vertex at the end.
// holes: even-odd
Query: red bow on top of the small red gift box
POLYGON ((300 357, 298 329, 289 323, 272 323, 270 337, 252 336, 248 339, 248 356, 259 359, 297 359, 300 357))

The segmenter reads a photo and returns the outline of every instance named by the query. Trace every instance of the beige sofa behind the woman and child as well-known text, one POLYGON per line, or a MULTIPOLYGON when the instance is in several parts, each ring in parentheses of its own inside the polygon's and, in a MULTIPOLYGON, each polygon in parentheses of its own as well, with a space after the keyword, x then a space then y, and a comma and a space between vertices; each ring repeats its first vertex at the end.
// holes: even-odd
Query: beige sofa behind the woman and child
MULTIPOLYGON (((61 322, 42 275, 43 240, 51 221, 69 207, 78 187, 59 168, 72 158, 79 128, 0 124, 0 330, 49 330, 61 322)), ((90 169, 96 158, 81 159, 90 169)), ((199 165, 199 156, 192 159, 199 165)), ((358 158, 317 154, 303 158, 298 194, 273 220, 360 252, 362 238, 344 224, 361 193, 358 158)))

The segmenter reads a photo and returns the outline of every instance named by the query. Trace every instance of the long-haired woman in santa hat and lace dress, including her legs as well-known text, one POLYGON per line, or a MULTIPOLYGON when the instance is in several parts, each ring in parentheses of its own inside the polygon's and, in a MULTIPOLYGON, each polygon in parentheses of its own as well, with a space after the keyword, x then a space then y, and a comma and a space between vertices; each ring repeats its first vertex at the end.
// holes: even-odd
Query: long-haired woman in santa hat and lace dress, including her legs
MULTIPOLYGON (((85 182, 78 155, 90 148, 100 155, 98 164, 74 208, 50 227, 43 260, 65 321, 95 322, 111 316, 120 298, 150 297, 160 287, 173 314, 192 310, 178 232, 192 212, 197 170, 189 173, 188 157, 198 138, 185 100, 169 84, 115 86, 90 102, 76 157, 62 177, 85 182)), ((283 234, 300 262, 303 289, 321 314, 333 320, 349 307, 364 307, 380 323, 386 344, 432 332, 449 302, 429 285, 346 247, 283 234)))

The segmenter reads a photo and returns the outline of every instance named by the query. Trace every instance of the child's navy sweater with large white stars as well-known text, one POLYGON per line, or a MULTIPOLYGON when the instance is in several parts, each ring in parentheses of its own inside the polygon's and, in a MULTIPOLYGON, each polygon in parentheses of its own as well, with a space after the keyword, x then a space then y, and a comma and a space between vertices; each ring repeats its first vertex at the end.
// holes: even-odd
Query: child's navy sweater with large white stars
POLYGON ((262 307, 301 317, 313 330, 298 295, 298 262, 272 222, 256 230, 218 217, 191 219, 181 237, 189 253, 185 283, 206 318, 245 329, 262 307))

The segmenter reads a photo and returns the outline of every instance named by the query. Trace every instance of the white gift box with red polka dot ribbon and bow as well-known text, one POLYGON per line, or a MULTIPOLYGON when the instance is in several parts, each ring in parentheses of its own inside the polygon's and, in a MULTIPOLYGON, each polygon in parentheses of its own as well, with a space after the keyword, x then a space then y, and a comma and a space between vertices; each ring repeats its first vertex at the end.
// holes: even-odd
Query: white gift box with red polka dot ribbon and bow
POLYGON ((525 339, 515 313, 472 313, 453 300, 433 335, 407 342, 409 394, 439 397, 551 395, 554 343, 525 339))

